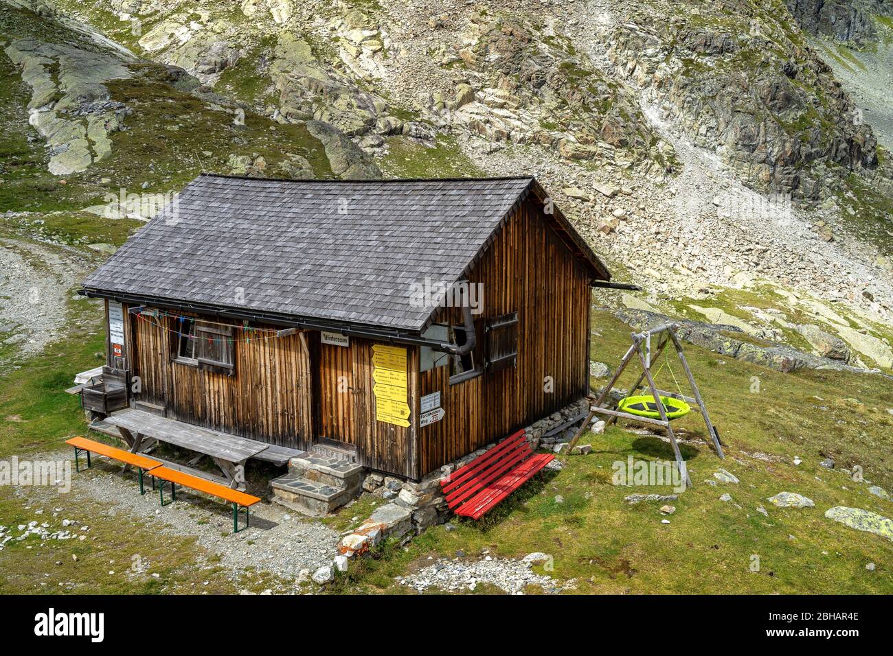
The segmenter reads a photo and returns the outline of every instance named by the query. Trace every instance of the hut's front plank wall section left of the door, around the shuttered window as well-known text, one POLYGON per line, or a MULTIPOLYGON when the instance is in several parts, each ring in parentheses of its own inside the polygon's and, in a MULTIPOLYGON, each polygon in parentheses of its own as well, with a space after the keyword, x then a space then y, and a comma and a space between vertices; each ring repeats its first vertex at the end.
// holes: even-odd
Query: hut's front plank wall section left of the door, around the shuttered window
MULTIPOLYGON (((171 361, 172 334, 127 313, 129 358, 141 378, 137 401, 163 406, 167 417, 305 449, 313 443, 312 378, 298 335, 234 345, 232 376, 171 361)), ((257 326, 257 328, 275 328, 257 326)), ((236 335, 241 338, 241 331, 236 335)))

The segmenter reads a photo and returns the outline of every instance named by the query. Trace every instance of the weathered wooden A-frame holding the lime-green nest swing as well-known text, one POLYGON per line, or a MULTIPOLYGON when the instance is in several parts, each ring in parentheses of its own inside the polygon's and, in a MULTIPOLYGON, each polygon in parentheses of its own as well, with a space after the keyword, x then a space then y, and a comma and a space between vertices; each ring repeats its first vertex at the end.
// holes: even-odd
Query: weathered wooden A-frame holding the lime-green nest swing
POLYGON ((571 444, 568 444, 568 453, 571 453, 571 450, 577 444, 577 440, 580 439, 583 431, 586 430, 589 422, 592 420, 593 417, 595 417, 596 414, 603 414, 607 416, 608 419, 606 419, 605 421, 605 428, 610 426, 617 419, 630 419, 633 421, 640 421, 655 426, 662 426, 666 429, 667 436, 670 437, 670 444, 672 444, 672 450, 676 456, 676 466, 680 470, 680 474, 685 481, 685 485, 687 487, 691 487, 692 484, 691 478, 689 477, 689 470, 686 467, 685 461, 682 459, 682 453, 680 453, 679 444, 676 442, 676 435, 675 433, 673 433, 672 427, 670 426, 670 419, 667 419, 666 411, 664 410, 663 403, 661 402, 661 396, 670 396, 674 399, 679 399, 680 401, 689 403, 689 405, 697 406, 697 408, 701 411, 701 416, 704 418, 704 423, 706 424, 707 431, 710 433, 710 436, 713 439, 716 454, 721 459, 725 459, 725 454, 722 453, 722 443, 720 442, 719 433, 714 427, 713 422, 710 420, 710 414, 707 412, 707 406, 704 403, 704 399, 701 398, 700 391, 697 389, 695 377, 692 375, 691 369, 689 368, 689 361, 686 360, 685 351, 682 349, 679 336, 676 335, 676 330, 678 328, 680 328, 680 324, 678 323, 665 323, 661 326, 651 328, 649 330, 644 330, 640 333, 632 333, 632 345, 630 346, 630 350, 627 351, 626 355, 623 356, 620 367, 618 367, 617 370, 614 372, 613 377, 605 386, 605 389, 602 390, 602 393, 598 395, 598 398, 589 407, 589 413, 586 416, 586 419, 583 421, 580 428, 577 429, 577 432, 574 434, 573 439, 571 440, 571 444), (655 353, 653 355, 651 353, 652 336, 660 336, 660 341, 658 342, 657 348, 655 349, 655 353), (655 379, 651 375, 652 363, 657 361, 657 359, 661 356, 661 353, 663 353, 663 349, 665 349, 666 346, 671 342, 673 347, 676 349, 676 354, 679 356, 680 362, 682 363, 682 369, 685 370, 686 378, 689 378, 689 386, 691 387, 691 393, 693 394, 693 396, 686 396, 685 394, 668 392, 663 389, 658 389, 655 385, 655 379), (644 348, 643 344, 645 345, 644 348), (642 373, 638 377, 638 380, 630 388, 630 394, 635 393, 639 389, 645 389, 646 386, 642 385, 642 381, 647 380, 647 389, 650 390, 651 394, 655 398, 657 411, 660 413, 661 416, 660 419, 641 417, 639 415, 632 414, 631 412, 623 412, 603 407, 608 394, 611 394, 611 389, 613 388, 614 383, 616 383, 617 380, 621 377, 623 370, 625 370, 627 365, 629 365, 630 362, 633 361, 635 356, 638 356, 638 361, 642 366, 642 373))

